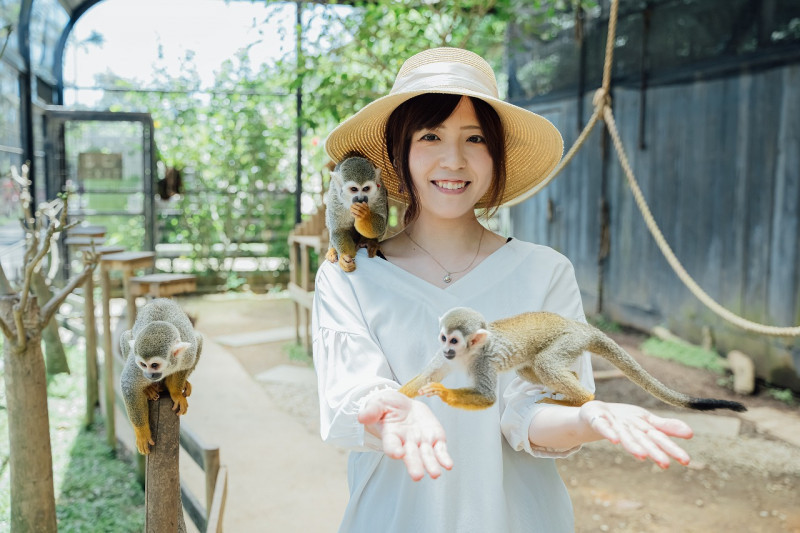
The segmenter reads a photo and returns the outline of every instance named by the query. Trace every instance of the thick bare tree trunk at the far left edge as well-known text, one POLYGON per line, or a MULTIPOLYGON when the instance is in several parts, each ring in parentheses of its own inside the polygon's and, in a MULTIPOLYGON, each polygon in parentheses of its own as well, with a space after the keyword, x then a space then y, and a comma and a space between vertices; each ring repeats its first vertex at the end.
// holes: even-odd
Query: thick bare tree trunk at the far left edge
POLYGON ((23 317, 28 331, 27 349, 19 352, 13 307, 16 295, 0 297, 0 318, 14 332, 3 343, 8 407, 9 473, 11 479, 11 531, 55 533, 56 503, 53 457, 47 412, 47 378, 39 306, 30 298, 23 317))

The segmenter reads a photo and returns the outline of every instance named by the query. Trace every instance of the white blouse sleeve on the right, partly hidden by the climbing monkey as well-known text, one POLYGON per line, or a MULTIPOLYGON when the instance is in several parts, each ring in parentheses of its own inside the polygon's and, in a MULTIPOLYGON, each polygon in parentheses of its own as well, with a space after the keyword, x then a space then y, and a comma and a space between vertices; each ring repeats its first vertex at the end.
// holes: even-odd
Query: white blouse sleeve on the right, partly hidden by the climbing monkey
MULTIPOLYGON (((586 322, 580 290, 575 279, 575 270, 566 258, 556 267, 548 287, 542 311, 558 313, 567 318, 586 322)), ((594 392, 594 377, 589 352, 584 352, 572 366, 581 384, 594 392)), ((528 438, 528 428, 534 417, 546 408, 538 403, 553 397, 553 391, 543 385, 534 385, 515 377, 502 391, 503 413, 500 426, 509 445, 517 451, 526 451, 534 457, 566 457, 578 451, 580 446, 566 450, 534 446, 528 438)))

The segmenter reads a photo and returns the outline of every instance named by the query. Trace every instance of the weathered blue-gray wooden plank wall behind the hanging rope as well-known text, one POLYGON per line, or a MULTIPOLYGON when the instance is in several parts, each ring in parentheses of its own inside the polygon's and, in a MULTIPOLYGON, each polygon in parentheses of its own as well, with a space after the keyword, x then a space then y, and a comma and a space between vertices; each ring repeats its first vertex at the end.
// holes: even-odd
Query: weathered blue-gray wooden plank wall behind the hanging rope
MULTIPOLYGON (((653 215, 689 274, 722 305, 766 324, 800 324, 800 65, 692 84, 613 90, 617 125, 653 215), (640 148, 640 140, 644 148, 640 148)), ((584 119, 592 94, 585 96, 584 119)), ((577 99, 529 107, 566 147, 577 99)), ((588 315, 665 325, 756 359, 768 381, 800 390, 800 342, 744 332, 719 319, 678 279, 645 227, 602 124, 570 166, 512 208, 517 238, 547 244, 575 265, 588 315), (602 205, 608 208, 602 257, 602 205)))

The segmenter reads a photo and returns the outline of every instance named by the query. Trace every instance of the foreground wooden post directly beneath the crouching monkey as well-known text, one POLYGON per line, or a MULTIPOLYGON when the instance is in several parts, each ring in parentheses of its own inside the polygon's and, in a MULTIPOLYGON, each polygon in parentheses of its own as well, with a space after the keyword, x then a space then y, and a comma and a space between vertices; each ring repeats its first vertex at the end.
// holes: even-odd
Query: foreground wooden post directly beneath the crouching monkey
POLYGON ((156 445, 151 446, 147 456, 144 530, 145 533, 185 532, 178 468, 180 419, 172 411, 169 394, 147 403, 150 431, 156 445))

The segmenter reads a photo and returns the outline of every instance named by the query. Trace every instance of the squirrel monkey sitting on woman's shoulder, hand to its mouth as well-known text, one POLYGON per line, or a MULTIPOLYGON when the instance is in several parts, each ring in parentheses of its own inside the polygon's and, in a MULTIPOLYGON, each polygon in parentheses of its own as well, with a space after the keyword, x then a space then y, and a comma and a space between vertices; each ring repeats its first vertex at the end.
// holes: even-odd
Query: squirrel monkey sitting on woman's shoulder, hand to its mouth
POLYGON ((386 231, 388 200, 381 170, 356 153, 348 154, 331 171, 325 204, 325 225, 330 232, 325 258, 352 272, 359 246, 366 246, 374 257, 378 239, 386 231))

